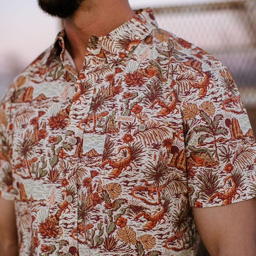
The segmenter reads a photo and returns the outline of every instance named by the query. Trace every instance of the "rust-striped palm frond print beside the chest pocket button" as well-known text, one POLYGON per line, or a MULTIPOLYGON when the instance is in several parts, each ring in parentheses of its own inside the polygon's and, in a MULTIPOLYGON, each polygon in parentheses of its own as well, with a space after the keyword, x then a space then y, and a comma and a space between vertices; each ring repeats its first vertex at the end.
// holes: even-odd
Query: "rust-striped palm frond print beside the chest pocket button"
POLYGON ((142 141, 146 145, 152 144, 152 143, 158 143, 158 139, 164 139, 165 136, 169 135, 169 130, 165 126, 153 120, 145 123, 145 125, 147 127, 145 131, 141 132, 138 130, 134 133, 133 136, 136 139, 139 139, 140 141, 142 141))

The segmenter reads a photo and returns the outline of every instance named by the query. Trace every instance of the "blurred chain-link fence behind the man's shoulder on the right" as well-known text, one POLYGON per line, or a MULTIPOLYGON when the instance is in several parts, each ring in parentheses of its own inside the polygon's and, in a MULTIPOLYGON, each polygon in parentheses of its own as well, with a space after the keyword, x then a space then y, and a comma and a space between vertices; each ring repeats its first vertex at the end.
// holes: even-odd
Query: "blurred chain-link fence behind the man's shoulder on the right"
POLYGON ((206 50, 229 69, 256 134, 256 0, 165 6, 154 12, 159 27, 206 50))

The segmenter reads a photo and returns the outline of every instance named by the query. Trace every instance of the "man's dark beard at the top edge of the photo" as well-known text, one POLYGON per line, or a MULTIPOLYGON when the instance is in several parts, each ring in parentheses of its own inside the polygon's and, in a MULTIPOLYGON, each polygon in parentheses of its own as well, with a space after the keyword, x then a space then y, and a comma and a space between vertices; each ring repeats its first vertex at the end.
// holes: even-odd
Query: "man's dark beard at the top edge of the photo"
POLYGON ((37 0, 41 10, 61 19, 74 14, 84 0, 37 0))

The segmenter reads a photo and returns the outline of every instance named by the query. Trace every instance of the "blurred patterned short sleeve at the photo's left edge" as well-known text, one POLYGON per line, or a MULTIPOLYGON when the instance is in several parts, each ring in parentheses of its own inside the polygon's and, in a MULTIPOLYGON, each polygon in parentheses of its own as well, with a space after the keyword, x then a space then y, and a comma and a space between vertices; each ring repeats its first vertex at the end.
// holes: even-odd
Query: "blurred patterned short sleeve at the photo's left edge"
POLYGON ((11 87, 6 91, 0 103, 0 197, 14 200, 12 164, 11 164, 11 124, 10 119, 10 93, 11 87))

